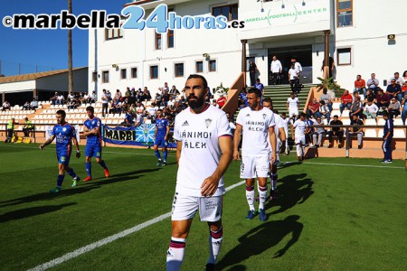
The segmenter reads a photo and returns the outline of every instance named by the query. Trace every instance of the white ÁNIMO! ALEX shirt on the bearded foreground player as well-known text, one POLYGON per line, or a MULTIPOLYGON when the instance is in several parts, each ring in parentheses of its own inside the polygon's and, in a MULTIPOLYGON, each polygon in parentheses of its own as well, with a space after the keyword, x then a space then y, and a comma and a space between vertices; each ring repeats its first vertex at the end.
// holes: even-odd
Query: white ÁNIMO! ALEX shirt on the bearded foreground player
MULTIPOLYGON (((176 175, 176 192, 202 197, 201 185, 216 170, 222 152, 219 137, 231 136, 226 114, 208 105, 204 112, 194 114, 188 107, 175 117, 174 138, 182 142, 176 175)), ((213 196, 224 193, 223 177, 213 196)))

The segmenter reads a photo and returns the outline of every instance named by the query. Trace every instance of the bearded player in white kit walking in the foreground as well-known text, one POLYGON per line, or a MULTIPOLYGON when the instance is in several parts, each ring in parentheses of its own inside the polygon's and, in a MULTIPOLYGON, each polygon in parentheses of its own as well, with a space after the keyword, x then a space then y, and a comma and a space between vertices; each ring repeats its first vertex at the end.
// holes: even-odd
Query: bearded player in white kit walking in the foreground
POLYGON ((223 173, 232 162, 232 135, 226 114, 204 102, 207 85, 203 76, 190 75, 185 82, 189 107, 175 117, 178 173, 167 270, 181 268, 185 240, 197 210, 209 226, 207 270, 214 269, 222 245, 223 173))

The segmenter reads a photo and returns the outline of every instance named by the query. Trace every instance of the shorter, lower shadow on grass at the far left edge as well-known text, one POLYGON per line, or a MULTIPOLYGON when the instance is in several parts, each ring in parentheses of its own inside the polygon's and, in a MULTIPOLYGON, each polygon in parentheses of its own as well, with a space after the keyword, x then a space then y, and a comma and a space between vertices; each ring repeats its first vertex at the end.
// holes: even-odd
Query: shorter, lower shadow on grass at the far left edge
POLYGON ((5 214, 0 216, 0 223, 4 223, 10 220, 22 220, 25 218, 41 215, 44 213, 49 213, 52 211, 61 210, 64 207, 68 207, 71 205, 75 205, 77 203, 65 203, 61 205, 49 205, 49 206, 38 206, 38 207, 31 207, 22 210, 13 210, 6 212, 5 214))

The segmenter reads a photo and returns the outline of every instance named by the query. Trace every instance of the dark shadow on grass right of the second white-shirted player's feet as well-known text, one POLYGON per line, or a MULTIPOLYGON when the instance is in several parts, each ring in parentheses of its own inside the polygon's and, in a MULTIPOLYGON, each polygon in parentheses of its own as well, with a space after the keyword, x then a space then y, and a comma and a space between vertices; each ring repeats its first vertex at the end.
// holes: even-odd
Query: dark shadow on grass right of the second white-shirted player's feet
POLYGON ((306 178, 306 173, 288 175, 279 179, 277 185, 278 196, 274 201, 267 203, 267 209, 272 206, 279 206, 279 210, 274 210, 271 214, 276 214, 289 210, 297 204, 304 203, 314 193, 312 185, 314 182, 306 178))

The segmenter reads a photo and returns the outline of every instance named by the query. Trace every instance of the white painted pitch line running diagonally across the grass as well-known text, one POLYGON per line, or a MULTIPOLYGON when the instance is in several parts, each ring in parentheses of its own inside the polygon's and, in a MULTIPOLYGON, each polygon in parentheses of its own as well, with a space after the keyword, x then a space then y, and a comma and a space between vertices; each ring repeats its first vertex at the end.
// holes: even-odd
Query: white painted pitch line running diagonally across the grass
MULTIPOLYGON (((243 183, 245 183, 245 181, 241 181, 241 182, 237 182, 235 184, 232 184, 231 186, 226 188, 226 191, 228 192, 228 191, 232 190, 233 188, 236 188, 236 187, 240 186, 243 183)), ((169 217, 171 217, 171 212, 167 212, 167 213, 165 213, 165 214, 163 214, 163 215, 161 215, 159 217, 156 217, 153 220, 148 220, 148 221, 146 221, 144 223, 138 224, 137 226, 135 226, 133 228, 125 229, 123 231, 120 231, 117 234, 109 236, 108 238, 103 238, 103 239, 101 239, 99 241, 91 243, 88 246, 78 248, 78 249, 76 249, 76 250, 74 250, 74 251, 72 251, 70 253, 67 253, 67 254, 63 255, 62 257, 57 257, 57 258, 55 258, 55 259, 53 259, 53 260, 51 260, 49 262, 46 262, 46 263, 44 263, 42 265, 35 266, 35 267, 31 268, 31 269, 28 269, 28 271, 46 270, 46 269, 51 268, 53 266, 57 266, 59 264, 62 264, 63 262, 66 262, 66 261, 70 260, 71 258, 79 257, 80 255, 82 255, 82 254, 84 254, 86 252, 89 252, 89 251, 91 251, 91 250, 93 250, 95 248, 99 248, 99 247, 102 247, 104 245, 107 245, 107 244, 109 244, 109 243, 111 243, 113 241, 116 241, 119 238, 124 238, 124 237, 128 236, 129 234, 135 233, 135 232, 139 231, 140 229, 147 228, 148 226, 156 224, 156 223, 158 223, 158 222, 160 222, 162 220, 166 220, 169 217)))

